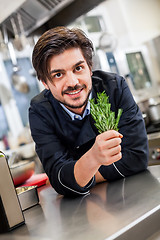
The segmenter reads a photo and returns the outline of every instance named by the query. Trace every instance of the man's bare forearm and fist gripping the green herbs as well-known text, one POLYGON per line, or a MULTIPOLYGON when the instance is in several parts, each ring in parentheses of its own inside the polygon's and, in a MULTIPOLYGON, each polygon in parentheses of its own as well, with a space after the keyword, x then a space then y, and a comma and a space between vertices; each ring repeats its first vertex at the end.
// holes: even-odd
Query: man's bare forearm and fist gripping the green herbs
POLYGON ((95 175, 96 182, 105 179, 98 172, 101 165, 109 165, 121 159, 122 134, 109 130, 96 137, 92 148, 86 152, 75 164, 74 175, 77 183, 84 187, 95 175))

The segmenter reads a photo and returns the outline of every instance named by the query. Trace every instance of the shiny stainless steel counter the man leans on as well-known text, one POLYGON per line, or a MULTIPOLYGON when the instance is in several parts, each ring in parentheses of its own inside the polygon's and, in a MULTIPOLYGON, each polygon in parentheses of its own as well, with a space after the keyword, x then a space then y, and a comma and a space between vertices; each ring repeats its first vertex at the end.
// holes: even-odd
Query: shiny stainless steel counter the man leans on
POLYGON ((24 211, 26 224, 0 239, 158 239, 153 234, 160 230, 160 166, 97 184, 83 197, 64 198, 50 185, 38 194, 40 204, 24 211))

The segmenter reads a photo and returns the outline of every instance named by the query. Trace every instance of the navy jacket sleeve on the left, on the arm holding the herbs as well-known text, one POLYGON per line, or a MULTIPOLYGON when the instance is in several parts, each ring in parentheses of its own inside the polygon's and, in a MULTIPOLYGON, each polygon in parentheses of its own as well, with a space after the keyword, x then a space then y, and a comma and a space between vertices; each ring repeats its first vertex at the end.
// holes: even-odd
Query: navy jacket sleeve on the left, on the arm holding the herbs
POLYGON ((80 187, 74 178, 76 161, 69 155, 66 147, 56 135, 51 117, 47 111, 31 102, 29 122, 31 134, 36 143, 36 152, 52 187, 57 193, 71 196, 87 194, 95 184, 93 177, 85 187, 80 187))

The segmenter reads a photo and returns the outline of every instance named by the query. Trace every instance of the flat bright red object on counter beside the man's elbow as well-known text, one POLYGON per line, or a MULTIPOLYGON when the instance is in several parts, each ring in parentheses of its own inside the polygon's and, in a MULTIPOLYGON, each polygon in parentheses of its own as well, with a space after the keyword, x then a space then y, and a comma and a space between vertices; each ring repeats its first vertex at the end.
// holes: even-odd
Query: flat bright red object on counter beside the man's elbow
POLYGON ((48 176, 46 173, 33 174, 26 182, 24 182, 21 186, 43 186, 46 184, 48 180, 48 176))

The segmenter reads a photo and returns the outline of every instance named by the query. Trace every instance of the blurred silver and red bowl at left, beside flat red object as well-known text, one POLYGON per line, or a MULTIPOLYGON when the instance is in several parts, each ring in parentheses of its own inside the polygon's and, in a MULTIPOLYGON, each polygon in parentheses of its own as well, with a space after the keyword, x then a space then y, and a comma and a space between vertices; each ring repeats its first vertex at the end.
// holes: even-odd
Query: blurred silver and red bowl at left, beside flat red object
POLYGON ((15 186, 24 183, 28 178, 34 174, 35 162, 30 160, 23 160, 13 163, 10 166, 10 171, 13 177, 15 186))

